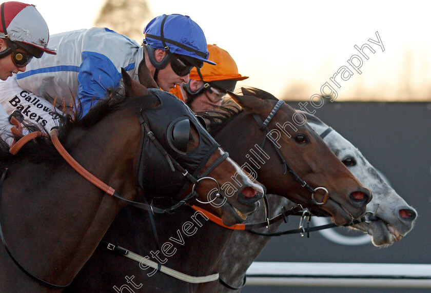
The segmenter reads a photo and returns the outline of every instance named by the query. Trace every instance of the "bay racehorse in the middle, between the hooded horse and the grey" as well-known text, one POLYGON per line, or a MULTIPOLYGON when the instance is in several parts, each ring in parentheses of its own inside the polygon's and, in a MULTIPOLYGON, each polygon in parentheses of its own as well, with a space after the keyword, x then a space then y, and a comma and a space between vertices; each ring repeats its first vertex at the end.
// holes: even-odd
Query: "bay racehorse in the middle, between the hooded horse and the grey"
MULTIPOLYGON (((274 146, 267 142, 262 148, 255 147, 266 137, 266 133, 260 130, 260 125, 254 121, 251 113, 256 113, 262 120, 265 120, 268 115, 272 115, 269 125, 275 129, 276 125, 293 123, 292 116, 296 111, 286 104, 279 104, 280 108, 274 114, 273 107, 278 104, 278 101, 261 99, 267 94, 263 91, 256 90, 252 94, 256 94, 256 96, 237 97, 237 102, 246 108, 247 112, 232 116, 233 119, 226 120, 224 127, 219 132, 212 133, 218 137, 224 148, 230 149, 234 158, 243 160, 243 168, 248 166, 248 170, 254 176, 256 176, 256 171, 249 167, 251 165, 244 165, 244 158, 247 153, 250 153, 248 151, 259 152, 261 159, 266 156, 270 157, 262 167, 264 171, 259 170, 257 174, 258 179, 261 176, 264 178, 265 187, 268 190, 276 190, 285 197, 295 196, 297 200, 309 201, 311 199, 310 191, 301 187, 290 173, 283 174, 283 165, 280 163, 274 146)), ((299 174, 301 178, 305 178, 311 186, 328 188, 330 199, 321 207, 330 211, 338 223, 344 224, 350 222, 352 218, 362 216, 365 212, 365 205, 370 200, 370 192, 330 152, 314 130, 306 124, 297 125, 297 128, 297 133, 292 133, 291 139, 286 135, 281 142, 280 138, 281 155, 285 158, 286 164, 291 166, 291 171, 299 174)), ((255 158, 257 161, 257 157, 255 158)), ((323 201, 322 198, 323 195, 319 194, 318 200, 323 201)), ((155 260, 158 257, 158 261, 164 266, 183 274, 194 277, 216 274, 231 230, 200 216, 199 231, 193 236, 186 237, 182 227, 184 227, 184 223, 193 222, 190 219, 195 215, 194 210, 184 208, 181 213, 154 216, 158 241, 148 241, 148 235, 154 233, 151 228, 153 224, 141 211, 133 207, 126 207, 120 211, 119 216, 108 229, 104 241, 108 245, 120 245, 129 251, 127 253, 134 252, 141 258, 150 257, 155 260), (130 222, 133 225, 127 224, 130 222), (157 253, 156 255, 156 252, 160 251, 158 248, 160 245, 157 245, 156 242, 162 246, 162 250, 166 243, 177 243, 174 246, 175 254, 168 256, 169 253, 168 255, 157 253)), ((241 243, 239 247, 242 249, 248 247, 248 243, 241 243)), ((153 274, 152 268, 143 269, 138 262, 123 255, 115 255, 107 249, 106 245, 100 245, 67 291, 96 292, 112 289, 117 292, 127 292, 128 290, 213 291, 218 286, 218 282, 194 284, 172 278, 163 272, 155 272, 155 275, 152 276, 153 274)))

